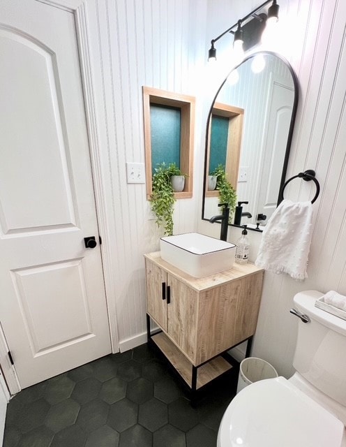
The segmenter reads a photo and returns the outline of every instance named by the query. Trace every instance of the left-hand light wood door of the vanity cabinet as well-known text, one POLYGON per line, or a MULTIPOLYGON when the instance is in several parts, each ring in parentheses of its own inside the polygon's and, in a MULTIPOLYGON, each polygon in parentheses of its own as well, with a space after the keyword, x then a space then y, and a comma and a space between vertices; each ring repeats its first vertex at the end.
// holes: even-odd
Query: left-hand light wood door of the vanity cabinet
POLYGON ((167 273, 148 259, 146 265, 146 312, 167 331, 167 273))

